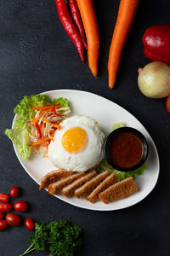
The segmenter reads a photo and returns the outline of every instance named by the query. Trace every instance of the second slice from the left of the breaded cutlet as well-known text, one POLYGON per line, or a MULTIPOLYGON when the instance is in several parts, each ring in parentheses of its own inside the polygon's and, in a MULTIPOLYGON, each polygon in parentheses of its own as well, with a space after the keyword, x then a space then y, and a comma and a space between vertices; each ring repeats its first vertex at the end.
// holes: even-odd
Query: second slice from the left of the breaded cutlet
POLYGON ((51 195, 57 195, 59 194, 60 190, 63 189, 66 185, 76 180, 78 177, 84 176, 83 172, 72 174, 70 177, 65 177, 61 180, 59 180, 56 183, 51 183, 48 186, 48 193, 51 195))

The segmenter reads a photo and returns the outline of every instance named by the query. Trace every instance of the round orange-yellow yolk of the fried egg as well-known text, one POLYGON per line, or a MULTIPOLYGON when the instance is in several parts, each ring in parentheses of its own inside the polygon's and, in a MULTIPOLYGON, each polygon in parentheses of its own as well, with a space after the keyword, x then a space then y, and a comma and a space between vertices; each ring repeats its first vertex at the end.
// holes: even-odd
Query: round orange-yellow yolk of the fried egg
POLYGON ((77 154, 87 147, 88 135, 86 131, 80 127, 71 128, 65 131, 61 143, 66 151, 71 154, 77 154))

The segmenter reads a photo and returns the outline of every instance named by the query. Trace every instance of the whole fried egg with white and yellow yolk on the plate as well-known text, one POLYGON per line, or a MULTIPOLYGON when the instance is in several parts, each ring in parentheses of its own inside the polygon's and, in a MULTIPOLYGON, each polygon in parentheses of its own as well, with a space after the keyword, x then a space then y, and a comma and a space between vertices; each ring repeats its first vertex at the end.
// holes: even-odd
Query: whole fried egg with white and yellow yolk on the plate
POLYGON ((63 120, 48 147, 48 158, 58 168, 86 172, 103 159, 105 135, 95 119, 75 115, 63 120))

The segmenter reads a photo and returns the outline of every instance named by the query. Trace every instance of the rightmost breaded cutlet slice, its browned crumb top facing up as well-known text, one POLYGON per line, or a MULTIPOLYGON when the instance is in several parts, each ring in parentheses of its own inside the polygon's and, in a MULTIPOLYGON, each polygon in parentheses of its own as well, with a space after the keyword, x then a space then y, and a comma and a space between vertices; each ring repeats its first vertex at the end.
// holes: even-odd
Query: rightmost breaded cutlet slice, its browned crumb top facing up
POLYGON ((128 197, 129 195, 137 192, 138 188, 133 181, 133 177, 127 177, 119 183, 112 185, 110 188, 99 193, 99 199, 105 204, 128 197))

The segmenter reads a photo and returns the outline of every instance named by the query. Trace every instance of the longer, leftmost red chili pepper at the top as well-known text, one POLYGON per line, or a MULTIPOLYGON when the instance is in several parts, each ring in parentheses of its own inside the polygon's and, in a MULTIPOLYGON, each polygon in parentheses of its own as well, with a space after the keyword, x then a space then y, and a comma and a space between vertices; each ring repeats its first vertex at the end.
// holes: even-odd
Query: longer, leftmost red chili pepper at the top
POLYGON ((77 28, 74 26, 71 20, 71 15, 69 14, 69 10, 67 8, 65 0, 55 0, 55 2, 57 4, 59 19, 61 20, 61 23, 65 27, 65 31, 71 38, 72 42, 75 44, 82 62, 84 62, 85 59, 84 59, 84 49, 82 44, 82 38, 77 32, 77 28))

